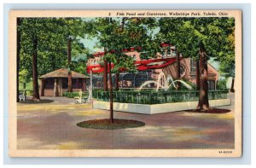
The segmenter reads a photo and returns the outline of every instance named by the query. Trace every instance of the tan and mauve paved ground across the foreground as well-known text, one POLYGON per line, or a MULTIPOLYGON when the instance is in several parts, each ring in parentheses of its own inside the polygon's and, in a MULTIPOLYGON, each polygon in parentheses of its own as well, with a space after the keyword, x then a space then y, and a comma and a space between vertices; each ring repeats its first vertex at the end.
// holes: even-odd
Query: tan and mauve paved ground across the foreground
MULTIPOLYGON (((233 96, 231 96, 233 99, 233 96)), ((108 111, 73 99, 44 97, 48 103, 18 103, 18 149, 234 148, 234 101, 230 113, 114 112, 116 119, 137 119, 146 125, 124 130, 78 127, 80 121, 106 119, 108 111)))

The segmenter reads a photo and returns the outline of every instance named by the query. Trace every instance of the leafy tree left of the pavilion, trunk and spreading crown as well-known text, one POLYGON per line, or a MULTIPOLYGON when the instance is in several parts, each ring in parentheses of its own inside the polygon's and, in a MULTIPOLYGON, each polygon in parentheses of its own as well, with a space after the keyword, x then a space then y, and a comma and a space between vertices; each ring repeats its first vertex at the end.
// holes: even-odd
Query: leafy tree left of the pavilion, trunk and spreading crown
MULTIPOLYGON (((67 40, 72 35, 71 46, 77 47, 76 52, 84 51, 79 40, 88 30, 79 18, 20 18, 20 22, 20 71, 26 69, 28 76, 33 77, 32 99, 37 101, 40 99, 38 75, 55 68, 71 67, 70 61, 65 59, 67 40)), ((73 50, 69 49, 68 53, 71 55, 73 50)))

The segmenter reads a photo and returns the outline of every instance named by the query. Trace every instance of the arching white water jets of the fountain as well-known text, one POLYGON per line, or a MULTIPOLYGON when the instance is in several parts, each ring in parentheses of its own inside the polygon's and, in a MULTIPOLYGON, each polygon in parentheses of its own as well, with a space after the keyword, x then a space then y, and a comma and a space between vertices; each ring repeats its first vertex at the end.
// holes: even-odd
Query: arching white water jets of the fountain
POLYGON ((159 90, 160 88, 167 91, 169 90, 172 86, 177 89, 177 82, 180 82, 181 84, 183 84, 186 88, 188 88, 189 90, 192 89, 192 87, 185 83, 183 80, 173 80, 172 76, 169 74, 168 77, 166 78, 166 75, 164 72, 160 72, 160 75, 157 79, 157 82, 154 80, 148 80, 146 82, 144 82, 140 87, 139 90, 142 90, 144 86, 146 86, 147 84, 157 84, 156 90, 159 90), (162 79, 162 84, 161 84, 161 80, 162 79))

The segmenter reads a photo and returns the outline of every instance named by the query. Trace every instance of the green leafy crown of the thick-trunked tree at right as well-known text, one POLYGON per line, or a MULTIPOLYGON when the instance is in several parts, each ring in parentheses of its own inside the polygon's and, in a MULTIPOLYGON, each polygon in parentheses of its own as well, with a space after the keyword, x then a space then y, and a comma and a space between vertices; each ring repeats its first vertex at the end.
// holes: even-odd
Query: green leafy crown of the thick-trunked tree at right
POLYGON ((160 18, 158 36, 174 44, 185 57, 197 57, 202 42, 207 55, 219 60, 234 51, 227 43, 234 24, 233 18, 160 18))

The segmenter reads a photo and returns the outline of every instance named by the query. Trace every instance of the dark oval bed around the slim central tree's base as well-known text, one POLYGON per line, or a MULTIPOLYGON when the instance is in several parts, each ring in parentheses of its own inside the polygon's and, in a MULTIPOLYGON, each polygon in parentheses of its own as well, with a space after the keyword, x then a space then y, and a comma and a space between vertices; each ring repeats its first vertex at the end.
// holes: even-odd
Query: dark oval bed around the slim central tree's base
POLYGON ((109 119, 93 119, 83 121, 77 124, 82 128, 98 129, 98 130, 116 130, 126 128, 136 128, 144 126, 145 123, 137 120, 128 119, 113 119, 113 124, 109 122, 109 119))

